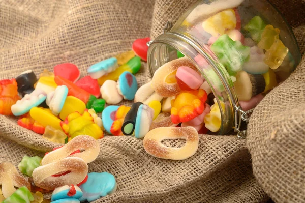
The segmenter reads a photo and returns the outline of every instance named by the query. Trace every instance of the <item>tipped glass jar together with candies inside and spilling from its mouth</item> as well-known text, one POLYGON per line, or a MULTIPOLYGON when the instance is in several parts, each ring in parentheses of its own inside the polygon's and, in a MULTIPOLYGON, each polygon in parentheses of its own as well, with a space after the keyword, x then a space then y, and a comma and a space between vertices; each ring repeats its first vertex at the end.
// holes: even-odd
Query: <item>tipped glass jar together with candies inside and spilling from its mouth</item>
POLYGON ((147 62, 154 91, 176 98, 174 123, 225 134, 289 77, 300 53, 290 26, 267 1, 201 0, 150 43, 147 62), (194 126, 199 117, 204 123, 194 126))

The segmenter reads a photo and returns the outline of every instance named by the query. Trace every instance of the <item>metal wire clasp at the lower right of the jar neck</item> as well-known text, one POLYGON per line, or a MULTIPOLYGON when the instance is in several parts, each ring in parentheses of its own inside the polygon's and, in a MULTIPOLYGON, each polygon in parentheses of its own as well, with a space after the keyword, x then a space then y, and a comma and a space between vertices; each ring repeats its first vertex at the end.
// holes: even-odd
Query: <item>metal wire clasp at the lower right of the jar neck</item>
POLYGON ((237 137, 239 139, 245 139, 247 136, 247 130, 240 130, 241 127, 241 122, 245 121, 246 123, 249 122, 249 117, 248 114, 251 113, 254 109, 250 109, 248 111, 243 111, 241 109, 241 106, 238 106, 235 109, 235 128, 234 128, 234 132, 237 132, 237 137))

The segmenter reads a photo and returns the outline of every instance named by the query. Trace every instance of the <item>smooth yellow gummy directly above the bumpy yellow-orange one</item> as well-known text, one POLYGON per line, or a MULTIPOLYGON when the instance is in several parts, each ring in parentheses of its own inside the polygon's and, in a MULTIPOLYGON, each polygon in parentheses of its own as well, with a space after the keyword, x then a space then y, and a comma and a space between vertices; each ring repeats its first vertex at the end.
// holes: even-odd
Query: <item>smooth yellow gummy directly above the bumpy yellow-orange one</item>
POLYGON ((59 118, 65 121, 70 113, 77 111, 82 114, 85 109, 86 104, 83 101, 76 97, 68 96, 66 98, 62 111, 60 111, 59 113, 59 118))

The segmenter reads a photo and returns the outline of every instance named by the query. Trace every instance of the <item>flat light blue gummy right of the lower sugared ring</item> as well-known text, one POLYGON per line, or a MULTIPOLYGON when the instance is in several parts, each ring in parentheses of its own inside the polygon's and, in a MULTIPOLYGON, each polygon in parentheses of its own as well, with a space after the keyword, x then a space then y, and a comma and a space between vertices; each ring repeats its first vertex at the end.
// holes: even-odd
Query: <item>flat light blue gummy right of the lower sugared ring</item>
POLYGON ((83 196, 79 198, 81 202, 91 202, 112 194, 116 191, 116 181, 114 176, 108 172, 90 172, 86 183, 79 186, 83 196))

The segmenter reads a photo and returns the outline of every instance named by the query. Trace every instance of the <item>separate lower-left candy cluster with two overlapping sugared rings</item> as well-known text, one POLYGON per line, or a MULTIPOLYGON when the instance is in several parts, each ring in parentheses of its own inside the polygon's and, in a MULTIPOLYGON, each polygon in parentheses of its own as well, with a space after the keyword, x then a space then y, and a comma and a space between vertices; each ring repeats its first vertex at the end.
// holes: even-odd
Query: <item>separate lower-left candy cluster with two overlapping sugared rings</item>
POLYGON ((79 203, 94 201, 115 192, 116 181, 108 172, 88 173, 88 163, 100 153, 97 140, 81 135, 65 146, 55 148, 43 158, 24 156, 19 170, 11 163, 0 164, 0 202, 3 203, 79 203), (18 188, 17 190, 15 189, 18 188), (43 193, 51 192, 51 199, 43 193))

